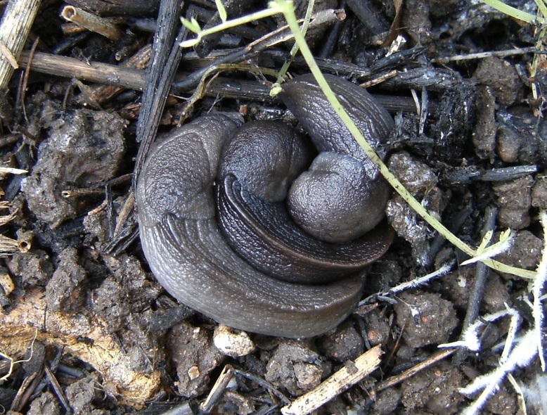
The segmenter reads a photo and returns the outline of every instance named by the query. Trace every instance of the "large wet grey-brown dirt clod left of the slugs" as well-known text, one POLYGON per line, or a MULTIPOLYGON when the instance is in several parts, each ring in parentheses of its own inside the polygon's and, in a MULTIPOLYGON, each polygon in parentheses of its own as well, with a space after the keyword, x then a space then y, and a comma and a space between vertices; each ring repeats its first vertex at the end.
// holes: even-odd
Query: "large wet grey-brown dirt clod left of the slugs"
POLYGON ((125 122, 116 113, 72 110, 46 121, 49 137, 38 149, 22 191, 34 215, 53 227, 78 213, 75 200, 63 198, 68 182, 90 186, 111 179, 124 155, 125 122))

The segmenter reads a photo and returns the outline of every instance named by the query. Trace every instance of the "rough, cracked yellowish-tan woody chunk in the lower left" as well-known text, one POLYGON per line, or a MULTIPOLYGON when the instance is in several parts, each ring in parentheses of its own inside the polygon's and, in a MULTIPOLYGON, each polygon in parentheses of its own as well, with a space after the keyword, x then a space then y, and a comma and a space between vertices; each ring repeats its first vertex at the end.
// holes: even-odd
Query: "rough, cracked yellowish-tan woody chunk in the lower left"
POLYGON ((46 312, 44 293, 36 289, 13 300, 11 312, 0 311, 1 352, 15 359, 25 355, 35 327, 39 328, 37 340, 55 347, 64 346, 65 352, 101 372, 105 392, 120 404, 141 408, 160 386, 158 371, 143 374, 131 369, 130 357, 109 333, 106 321, 91 315, 46 312), (83 342, 81 338, 88 341, 83 342))

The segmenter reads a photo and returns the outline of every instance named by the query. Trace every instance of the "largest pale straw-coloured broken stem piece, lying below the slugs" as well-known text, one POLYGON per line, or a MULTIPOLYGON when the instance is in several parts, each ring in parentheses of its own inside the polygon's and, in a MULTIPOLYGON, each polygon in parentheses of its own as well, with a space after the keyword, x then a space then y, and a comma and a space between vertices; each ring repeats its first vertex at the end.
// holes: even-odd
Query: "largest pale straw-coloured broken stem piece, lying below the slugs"
POLYGON ((281 414, 304 415, 315 411, 375 371, 380 366, 382 354, 380 345, 373 347, 357 357, 353 364, 343 367, 313 390, 297 397, 292 404, 281 408, 281 414))

